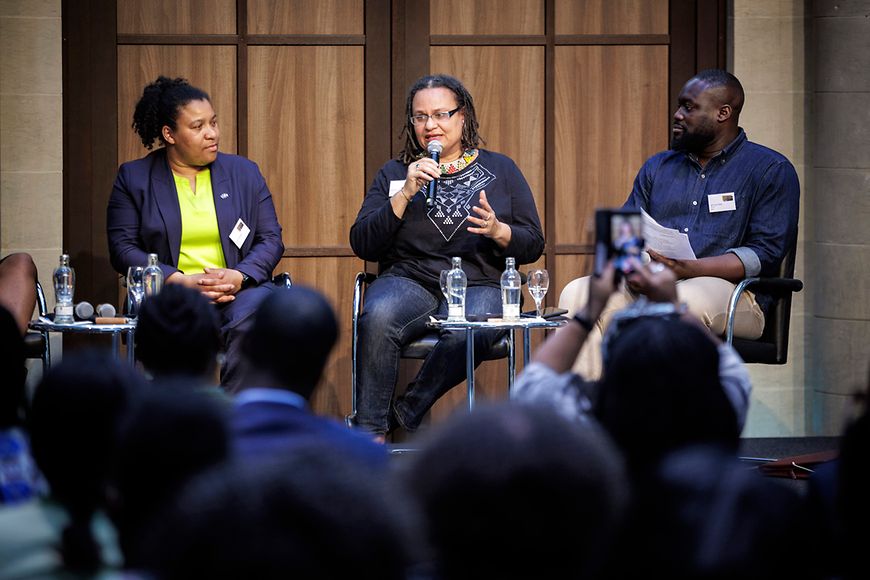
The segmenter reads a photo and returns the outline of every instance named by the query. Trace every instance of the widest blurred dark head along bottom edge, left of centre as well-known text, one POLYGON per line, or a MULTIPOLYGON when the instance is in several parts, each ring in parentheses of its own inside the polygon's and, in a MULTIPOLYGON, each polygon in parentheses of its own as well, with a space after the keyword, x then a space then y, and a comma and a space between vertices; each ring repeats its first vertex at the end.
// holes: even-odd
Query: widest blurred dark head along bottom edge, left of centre
POLYGON ((145 568, 162 580, 409 578, 414 535, 398 499, 328 447, 226 465, 155 518, 145 568))

